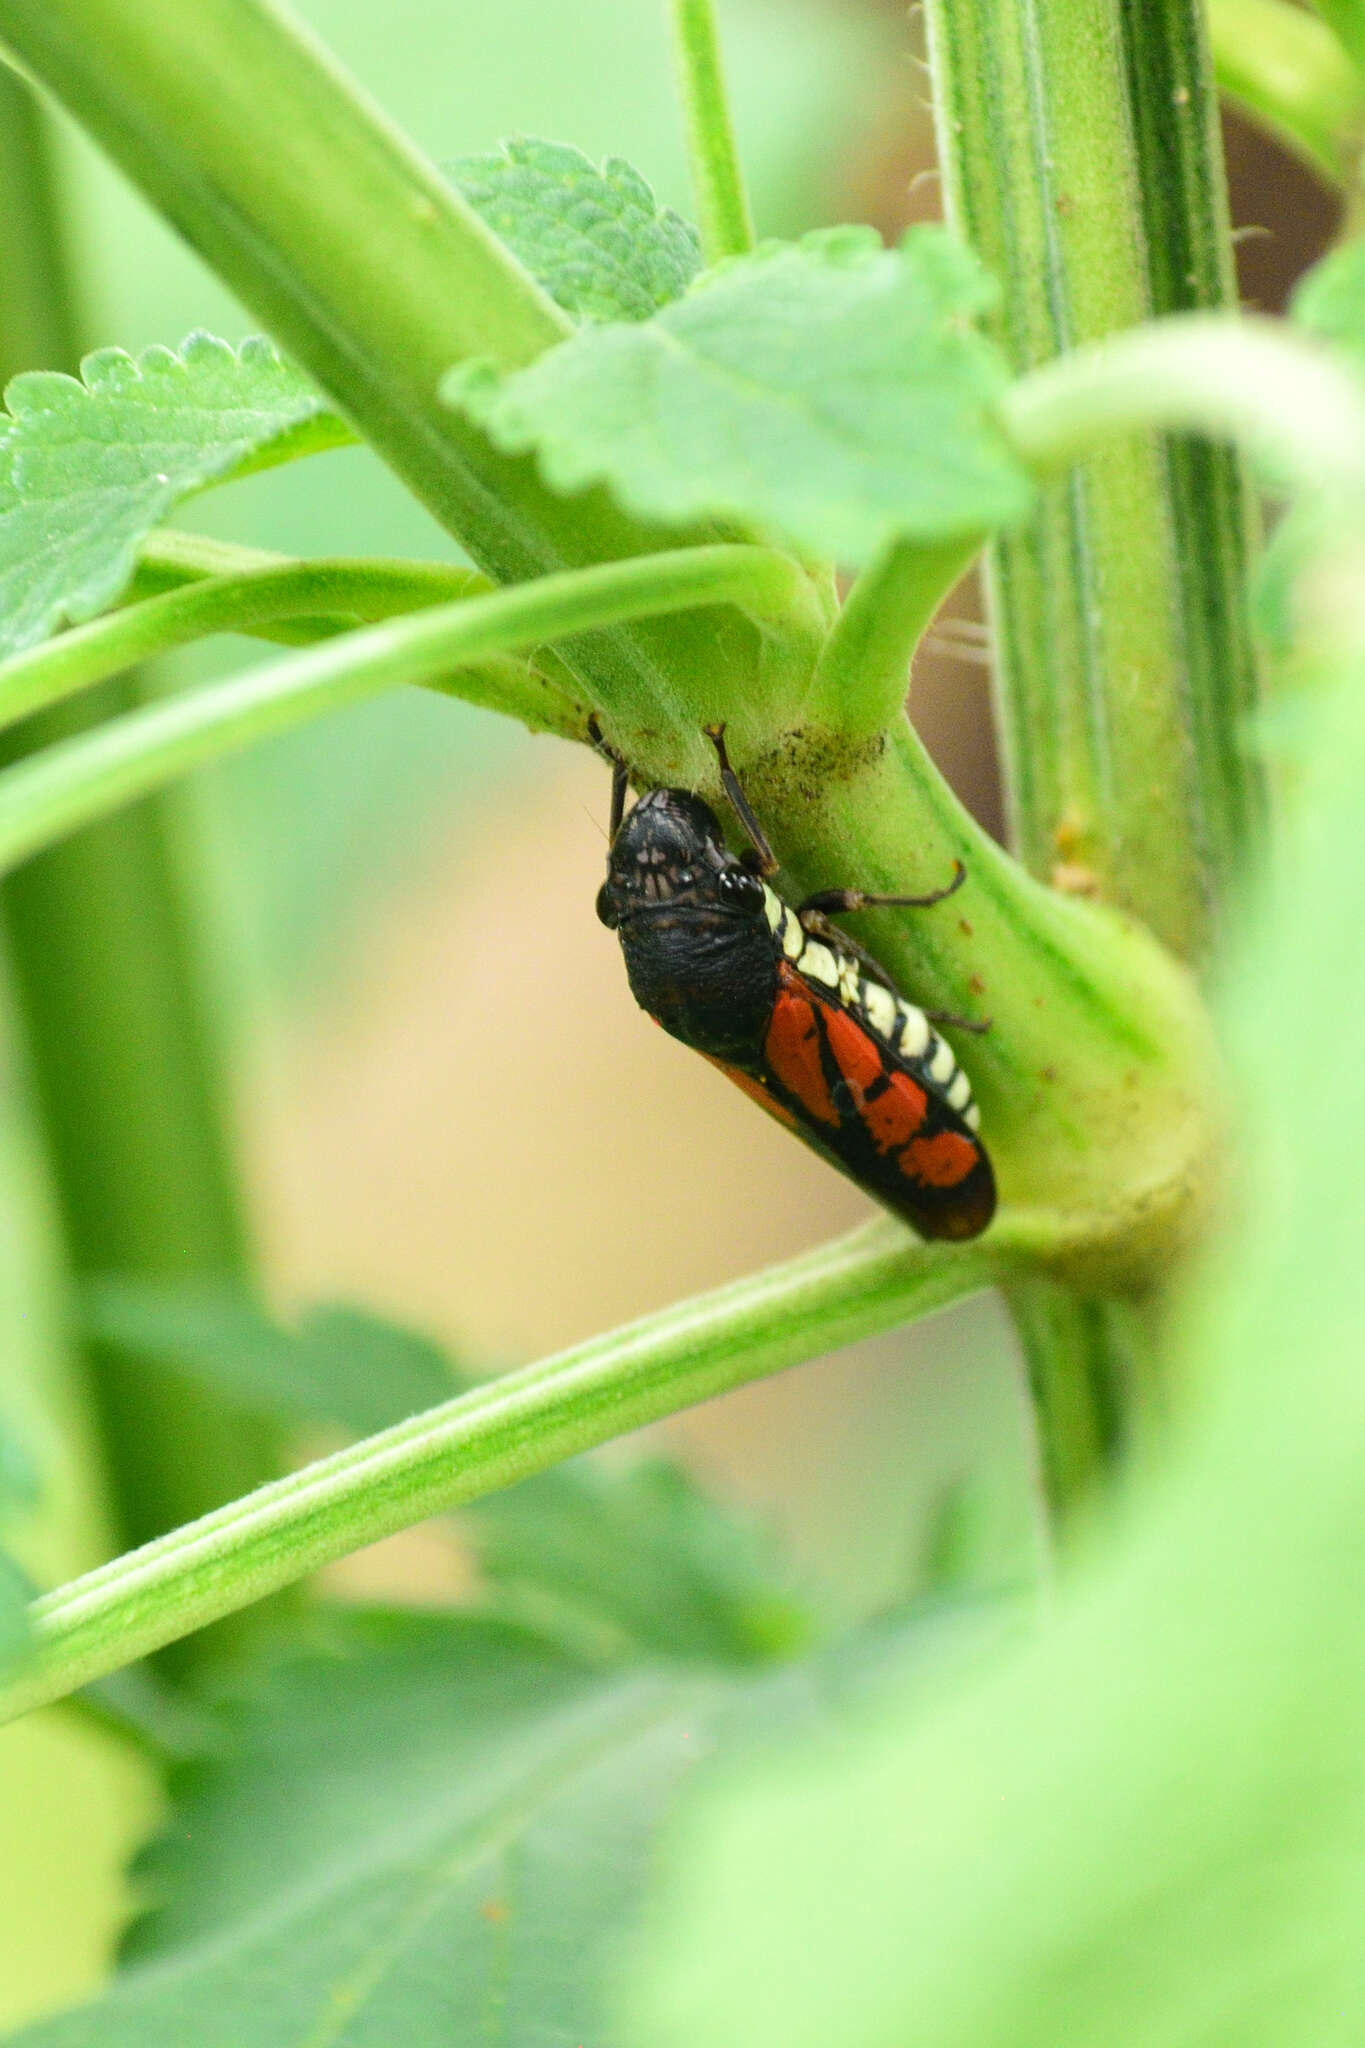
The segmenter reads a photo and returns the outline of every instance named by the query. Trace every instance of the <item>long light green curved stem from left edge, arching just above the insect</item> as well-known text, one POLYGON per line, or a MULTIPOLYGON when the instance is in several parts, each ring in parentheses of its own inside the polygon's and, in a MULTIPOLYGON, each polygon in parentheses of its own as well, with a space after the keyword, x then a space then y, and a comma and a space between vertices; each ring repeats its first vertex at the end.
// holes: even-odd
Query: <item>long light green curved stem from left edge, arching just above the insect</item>
MULTIPOLYGON (((737 594, 759 608, 763 602, 780 606, 798 573, 784 555, 757 547, 694 547, 610 561, 362 627, 241 676, 162 698, 0 776, 0 870, 190 768, 289 731, 321 711, 403 682, 438 684, 446 676, 458 694, 487 702, 479 688, 487 688, 489 670, 465 674, 463 664, 487 664, 493 655, 618 618, 720 604, 737 594)), ((551 719, 559 690, 546 684, 544 702, 551 719)), ((536 713, 524 702, 520 684, 518 700, 503 709, 516 717, 536 713)))

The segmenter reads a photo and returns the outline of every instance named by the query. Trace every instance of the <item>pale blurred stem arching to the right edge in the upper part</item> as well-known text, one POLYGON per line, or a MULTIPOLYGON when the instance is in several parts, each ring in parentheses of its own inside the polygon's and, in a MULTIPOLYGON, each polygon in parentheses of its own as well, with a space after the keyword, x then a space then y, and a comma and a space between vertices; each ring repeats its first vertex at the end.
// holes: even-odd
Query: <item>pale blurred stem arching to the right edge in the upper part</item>
POLYGON ((1318 342, 1254 315, 1177 315, 1048 362, 1013 387, 1005 424, 1029 463, 1054 469, 1156 428, 1226 434, 1291 487, 1365 487, 1359 381, 1318 342))

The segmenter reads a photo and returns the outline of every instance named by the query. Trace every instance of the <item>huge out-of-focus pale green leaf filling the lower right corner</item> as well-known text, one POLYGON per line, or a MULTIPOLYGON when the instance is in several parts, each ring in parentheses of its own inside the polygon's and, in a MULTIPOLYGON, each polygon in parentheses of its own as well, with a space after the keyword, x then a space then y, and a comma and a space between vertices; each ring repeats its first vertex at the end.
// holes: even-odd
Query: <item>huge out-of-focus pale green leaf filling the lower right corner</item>
POLYGON ((1361 2040, 1361 532, 1324 571, 1332 686, 1228 1006, 1234 1217, 1173 1341, 1179 1446, 1019 1655, 698 1804, 639 2048, 1361 2040))

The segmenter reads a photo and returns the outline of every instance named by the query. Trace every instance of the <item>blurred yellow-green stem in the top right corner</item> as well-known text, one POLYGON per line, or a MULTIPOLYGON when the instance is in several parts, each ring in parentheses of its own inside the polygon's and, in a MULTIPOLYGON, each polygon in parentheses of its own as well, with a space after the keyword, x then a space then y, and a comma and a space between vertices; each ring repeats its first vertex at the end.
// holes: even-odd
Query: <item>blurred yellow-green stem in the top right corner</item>
POLYGON ((1209 0, 1220 90, 1347 190, 1365 141, 1365 80, 1332 31, 1287 0, 1209 0))

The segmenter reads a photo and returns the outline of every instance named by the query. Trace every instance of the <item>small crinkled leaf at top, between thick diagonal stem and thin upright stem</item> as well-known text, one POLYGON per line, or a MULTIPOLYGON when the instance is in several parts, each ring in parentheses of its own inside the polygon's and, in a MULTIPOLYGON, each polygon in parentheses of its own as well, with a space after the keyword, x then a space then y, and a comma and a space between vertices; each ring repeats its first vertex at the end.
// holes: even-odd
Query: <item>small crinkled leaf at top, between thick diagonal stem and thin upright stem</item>
POLYGON ((647 319, 702 268, 702 242, 639 170, 516 137, 446 164, 475 213, 575 319, 647 319))

